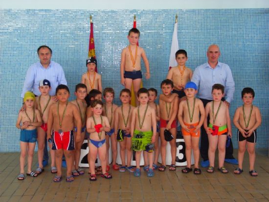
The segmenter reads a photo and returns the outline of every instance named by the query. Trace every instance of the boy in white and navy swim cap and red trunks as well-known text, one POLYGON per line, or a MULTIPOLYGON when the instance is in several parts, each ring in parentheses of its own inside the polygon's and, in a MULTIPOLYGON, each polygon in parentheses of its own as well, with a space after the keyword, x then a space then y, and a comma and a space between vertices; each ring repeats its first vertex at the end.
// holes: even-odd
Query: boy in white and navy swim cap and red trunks
MULTIPOLYGON (((43 168, 43 155, 46 141, 46 131, 47 131, 47 119, 48 119, 48 109, 54 101, 51 99, 49 95, 50 91, 50 82, 47 79, 41 80, 39 82, 39 91, 41 93, 40 96, 36 99, 36 107, 41 112, 41 118, 43 121, 43 125, 37 128, 37 142, 38 142, 38 165, 39 167, 36 169, 37 174, 41 174, 44 171, 43 168)), ((50 148, 50 157, 51 157, 51 173, 57 173, 57 169, 55 167, 55 151, 50 148)))

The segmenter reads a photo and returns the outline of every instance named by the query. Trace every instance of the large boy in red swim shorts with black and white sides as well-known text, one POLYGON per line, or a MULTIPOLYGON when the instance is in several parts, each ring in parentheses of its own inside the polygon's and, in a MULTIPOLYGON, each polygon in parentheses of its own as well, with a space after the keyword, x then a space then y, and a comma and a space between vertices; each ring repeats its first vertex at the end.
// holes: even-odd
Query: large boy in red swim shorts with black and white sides
POLYGON ((67 182, 74 181, 71 175, 72 151, 74 150, 74 121, 77 126, 76 141, 81 138, 82 122, 77 106, 68 102, 70 96, 66 85, 59 85, 56 88, 57 103, 50 106, 47 121, 47 141, 52 143, 52 150, 55 150, 55 160, 57 175, 53 178, 54 182, 62 180, 62 158, 65 154, 67 161, 67 182), (51 135, 51 129, 52 135, 51 135))

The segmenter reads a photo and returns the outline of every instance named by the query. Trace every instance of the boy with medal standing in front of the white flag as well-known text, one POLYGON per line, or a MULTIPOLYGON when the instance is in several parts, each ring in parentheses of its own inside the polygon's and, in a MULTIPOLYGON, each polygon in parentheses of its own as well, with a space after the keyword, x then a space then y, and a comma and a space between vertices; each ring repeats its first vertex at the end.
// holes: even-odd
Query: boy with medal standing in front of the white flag
POLYGON ((192 78, 192 70, 186 67, 186 61, 188 60, 187 52, 185 50, 179 50, 176 52, 177 67, 172 67, 166 78, 173 81, 174 89, 172 93, 177 93, 179 99, 185 97, 184 86, 192 78))

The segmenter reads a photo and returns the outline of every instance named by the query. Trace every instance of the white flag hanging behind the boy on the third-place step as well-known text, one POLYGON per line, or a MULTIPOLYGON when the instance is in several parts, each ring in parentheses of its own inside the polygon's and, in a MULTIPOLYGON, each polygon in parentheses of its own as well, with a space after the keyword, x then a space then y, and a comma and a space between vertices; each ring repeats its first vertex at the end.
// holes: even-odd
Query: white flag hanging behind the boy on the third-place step
POLYGON ((177 60, 176 60, 176 52, 179 50, 179 41, 178 41, 178 16, 176 16, 176 23, 174 26, 174 32, 172 37, 172 44, 171 44, 171 50, 170 50, 170 59, 169 59, 169 70, 172 67, 178 66, 177 60))

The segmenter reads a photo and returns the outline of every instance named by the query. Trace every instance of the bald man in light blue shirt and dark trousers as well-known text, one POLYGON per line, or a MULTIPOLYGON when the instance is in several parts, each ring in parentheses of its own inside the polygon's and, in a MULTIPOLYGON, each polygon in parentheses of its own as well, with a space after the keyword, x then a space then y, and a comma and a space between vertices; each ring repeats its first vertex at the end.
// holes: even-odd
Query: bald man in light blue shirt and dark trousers
MULTIPOLYGON (((216 83, 220 83, 225 87, 225 99, 224 103, 229 106, 233 100, 233 94, 235 91, 235 85, 230 67, 224 63, 219 62, 221 55, 220 49, 217 45, 213 44, 208 47, 207 50, 208 62, 197 67, 193 73, 191 81, 195 82, 198 87, 198 93, 200 100, 205 105, 212 101, 212 86, 216 83)), ((208 116, 209 119, 209 116, 208 116)), ((209 120, 208 120, 209 121, 209 120)), ((202 167, 208 167, 208 137, 202 126, 201 133, 201 156, 203 161, 202 167)), ((230 145, 226 148, 225 162, 238 164, 238 161, 233 157, 233 146, 230 141, 230 145)))

